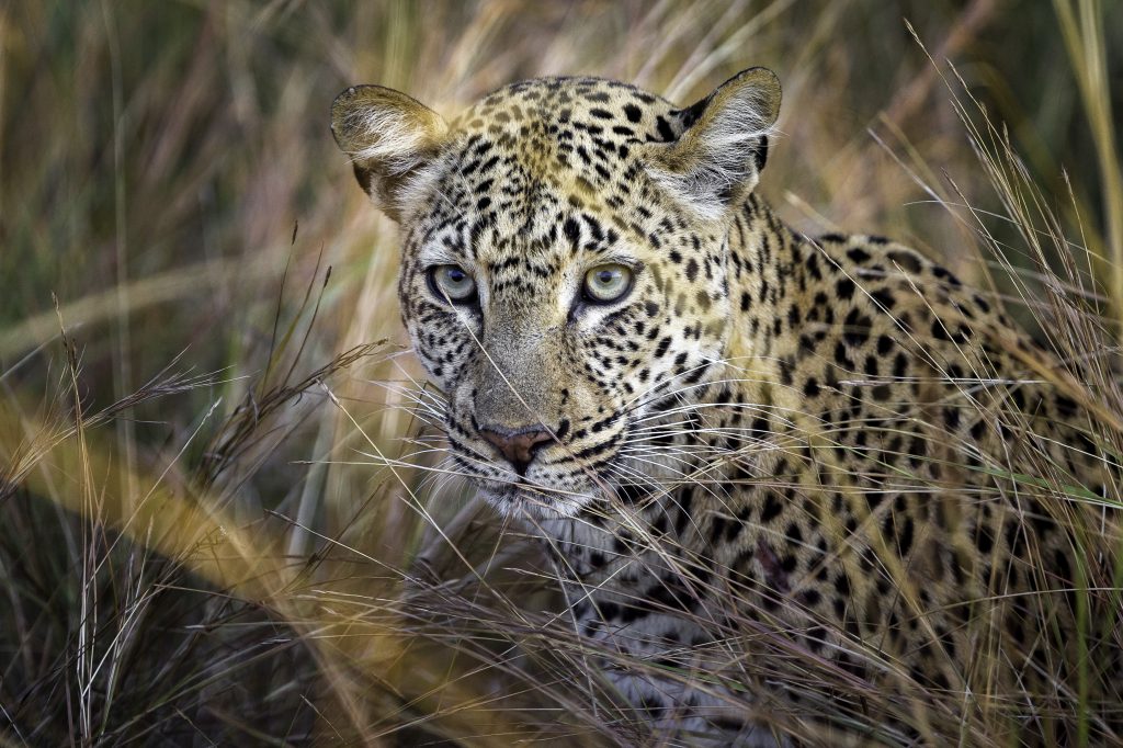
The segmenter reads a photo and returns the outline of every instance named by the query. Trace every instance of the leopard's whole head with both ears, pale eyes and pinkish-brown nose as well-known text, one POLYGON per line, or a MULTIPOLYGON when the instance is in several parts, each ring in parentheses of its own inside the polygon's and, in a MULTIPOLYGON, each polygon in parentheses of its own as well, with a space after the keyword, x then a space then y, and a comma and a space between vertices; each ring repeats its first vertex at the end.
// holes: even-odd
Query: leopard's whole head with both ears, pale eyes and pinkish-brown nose
POLYGON ((573 514, 659 475, 655 421, 721 374, 727 207, 777 107, 763 70, 686 109, 594 79, 514 84, 451 124, 378 86, 337 99, 336 138, 401 227, 451 458, 497 509, 573 514))

